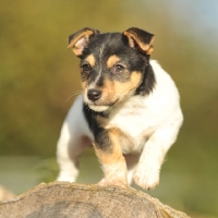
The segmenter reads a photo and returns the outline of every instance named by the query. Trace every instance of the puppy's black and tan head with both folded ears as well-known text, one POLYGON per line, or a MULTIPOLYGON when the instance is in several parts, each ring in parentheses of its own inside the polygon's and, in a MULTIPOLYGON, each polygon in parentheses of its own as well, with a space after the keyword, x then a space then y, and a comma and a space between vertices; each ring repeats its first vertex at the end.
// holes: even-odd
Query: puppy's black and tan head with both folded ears
POLYGON ((83 28, 71 35, 68 48, 81 59, 84 102, 102 112, 130 96, 152 92, 153 41, 153 34, 135 27, 107 34, 83 28))

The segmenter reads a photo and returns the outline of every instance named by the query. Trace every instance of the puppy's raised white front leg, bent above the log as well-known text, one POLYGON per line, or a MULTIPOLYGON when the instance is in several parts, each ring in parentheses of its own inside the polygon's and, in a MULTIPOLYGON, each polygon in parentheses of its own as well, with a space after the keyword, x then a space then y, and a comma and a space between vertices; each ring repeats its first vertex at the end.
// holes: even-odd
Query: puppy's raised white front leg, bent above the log
POLYGON ((159 172, 164 158, 174 143, 180 124, 171 124, 157 130, 146 142, 133 177, 143 189, 155 189, 159 183, 159 172))

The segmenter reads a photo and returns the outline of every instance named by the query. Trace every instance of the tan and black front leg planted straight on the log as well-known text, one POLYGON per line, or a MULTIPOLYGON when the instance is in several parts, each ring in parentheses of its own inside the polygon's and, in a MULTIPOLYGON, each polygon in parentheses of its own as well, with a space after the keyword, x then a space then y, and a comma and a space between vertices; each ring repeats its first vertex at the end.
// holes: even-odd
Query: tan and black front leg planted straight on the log
POLYGON ((126 164, 120 146, 119 131, 101 130, 96 136, 94 147, 105 174, 98 184, 126 187, 126 164))

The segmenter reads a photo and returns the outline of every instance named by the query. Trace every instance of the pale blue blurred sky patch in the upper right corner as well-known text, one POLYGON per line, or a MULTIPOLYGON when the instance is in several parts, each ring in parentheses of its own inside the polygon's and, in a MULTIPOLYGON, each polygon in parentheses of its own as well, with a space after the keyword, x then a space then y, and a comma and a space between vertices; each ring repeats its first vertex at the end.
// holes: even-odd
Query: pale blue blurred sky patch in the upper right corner
POLYGON ((183 24, 189 27, 189 33, 194 35, 197 40, 203 40, 210 47, 218 47, 218 1, 170 1, 170 12, 175 17, 172 23, 175 28, 180 28, 177 24, 183 24), (174 16, 174 13, 180 13, 174 16), (179 21, 178 21, 179 20, 179 21))

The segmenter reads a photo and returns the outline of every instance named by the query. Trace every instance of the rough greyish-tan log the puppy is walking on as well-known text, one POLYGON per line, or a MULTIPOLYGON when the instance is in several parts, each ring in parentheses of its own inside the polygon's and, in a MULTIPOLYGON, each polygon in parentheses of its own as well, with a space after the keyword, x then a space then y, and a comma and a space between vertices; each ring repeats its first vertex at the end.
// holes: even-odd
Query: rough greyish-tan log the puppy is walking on
POLYGON ((189 218, 149 195, 119 186, 41 183, 0 202, 2 218, 189 218))

